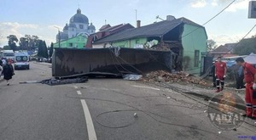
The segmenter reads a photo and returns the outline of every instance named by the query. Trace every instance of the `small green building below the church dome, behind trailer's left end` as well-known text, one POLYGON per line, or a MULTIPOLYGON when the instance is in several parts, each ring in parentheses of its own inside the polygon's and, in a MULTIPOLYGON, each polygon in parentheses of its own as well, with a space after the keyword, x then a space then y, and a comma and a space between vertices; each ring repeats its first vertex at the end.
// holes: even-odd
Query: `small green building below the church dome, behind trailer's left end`
MULTIPOLYGON (((61 41, 61 48, 84 48, 86 42, 87 36, 75 36, 65 41, 61 41)), ((55 42, 54 48, 59 48, 59 42, 55 42)))

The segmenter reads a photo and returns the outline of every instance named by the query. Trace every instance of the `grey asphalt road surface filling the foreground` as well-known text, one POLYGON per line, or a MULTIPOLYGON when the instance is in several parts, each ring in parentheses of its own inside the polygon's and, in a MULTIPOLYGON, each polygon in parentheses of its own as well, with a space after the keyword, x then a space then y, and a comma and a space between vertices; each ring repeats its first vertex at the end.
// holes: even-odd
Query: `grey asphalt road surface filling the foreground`
POLYGON ((48 79, 50 72, 49 65, 32 62, 31 70, 15 70, 10 86, 0 83, 0 140, 233 140, 256 134, 253 120, 222 131, 199 98, 136 81, 19 84, 48 79))

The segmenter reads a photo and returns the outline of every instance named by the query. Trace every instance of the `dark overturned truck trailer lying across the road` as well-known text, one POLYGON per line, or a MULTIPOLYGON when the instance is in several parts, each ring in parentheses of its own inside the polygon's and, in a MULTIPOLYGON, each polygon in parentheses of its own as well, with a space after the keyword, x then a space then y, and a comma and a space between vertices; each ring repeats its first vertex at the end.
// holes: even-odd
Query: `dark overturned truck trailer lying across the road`
POLYGON ((175 54, 135 48, 55 48, 52 76, 122 76, 172 70, 175 54))

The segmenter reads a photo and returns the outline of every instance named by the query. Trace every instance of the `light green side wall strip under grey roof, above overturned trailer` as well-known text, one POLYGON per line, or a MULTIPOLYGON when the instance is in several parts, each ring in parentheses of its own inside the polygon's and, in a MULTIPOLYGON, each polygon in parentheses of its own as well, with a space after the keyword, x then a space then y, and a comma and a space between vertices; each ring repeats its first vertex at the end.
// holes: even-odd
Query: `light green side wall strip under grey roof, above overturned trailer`
POLYGON ((113 42, 113 47, 120 47, 120 48, 136 48, 136 44, 144 45, 147 42, 147 38, 134 38, 126 41, 120 42, 113 42))

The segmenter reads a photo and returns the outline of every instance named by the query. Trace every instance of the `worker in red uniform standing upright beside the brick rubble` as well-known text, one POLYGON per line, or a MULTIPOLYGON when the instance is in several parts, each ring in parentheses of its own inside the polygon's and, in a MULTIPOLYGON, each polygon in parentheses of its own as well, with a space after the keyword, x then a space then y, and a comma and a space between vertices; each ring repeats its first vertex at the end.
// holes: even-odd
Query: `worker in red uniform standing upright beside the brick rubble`
POLYGON ((215 76, 216 76, 216 87, 217 91, 220 92, 224 89, 224 78, 227 73, 226 63, 221 61, 221 57, 218 57, 218 61, 215 63, 215 76), (221 86, 220 86, 221 85, 221 86))

